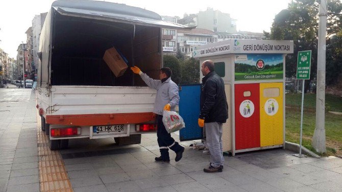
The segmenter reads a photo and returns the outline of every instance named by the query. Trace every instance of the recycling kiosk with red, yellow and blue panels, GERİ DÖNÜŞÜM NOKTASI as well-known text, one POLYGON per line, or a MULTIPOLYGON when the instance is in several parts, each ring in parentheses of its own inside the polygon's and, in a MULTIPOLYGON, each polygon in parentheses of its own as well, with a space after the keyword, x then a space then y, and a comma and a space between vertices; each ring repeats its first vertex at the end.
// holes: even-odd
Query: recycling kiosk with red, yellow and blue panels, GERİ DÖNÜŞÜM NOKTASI
MULTIPOLYGON (((200 60, 200 65, 212 60, 215 72, 225 83, 229 119, 223 125, 224 151, 235 155, 285 146, 285 56, 293 51, 293 41, 275 40, 231 39, 196 47, 193 57, 200 60)), ((196 89, 196 86, 180 86, 182 117, 189 116, 190 111, 199 112, 199 104, 196 104, 198 92, 200 88, 196 89), (188 89, 192 93, 182 93, 188 89), (182 98, 186 100, 185 95, 189 94, 193 103, 188 99, 190 109, 185 109, 182 98)), ((187 133, 202 131, 195 126, 196 115, 183 117, 186 126, 180 132, 181 140, 187 133)))

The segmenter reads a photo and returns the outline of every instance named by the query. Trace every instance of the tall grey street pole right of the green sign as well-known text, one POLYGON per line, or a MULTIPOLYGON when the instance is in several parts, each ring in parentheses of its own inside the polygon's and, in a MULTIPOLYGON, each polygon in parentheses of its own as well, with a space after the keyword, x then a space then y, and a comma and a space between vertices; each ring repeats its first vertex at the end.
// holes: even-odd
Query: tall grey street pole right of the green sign
POLYGON ((327 2, 321 0, 319 11, 317 87, 316 87, 316 127, 312 147, 320 153, 326 152, 325 146, 325 65, 326 65, 327 2))

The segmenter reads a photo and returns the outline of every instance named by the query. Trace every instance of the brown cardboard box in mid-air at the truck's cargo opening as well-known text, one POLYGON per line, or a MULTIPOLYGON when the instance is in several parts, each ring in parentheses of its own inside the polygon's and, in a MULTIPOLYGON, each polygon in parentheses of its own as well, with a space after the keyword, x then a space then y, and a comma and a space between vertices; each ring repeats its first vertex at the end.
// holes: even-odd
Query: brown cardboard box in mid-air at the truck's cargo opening
POLYGON ((123 75, 128 68, 125 60, 114 47, 106 50, 103 60, 105 60, 106 64, 116 77, 123 75))

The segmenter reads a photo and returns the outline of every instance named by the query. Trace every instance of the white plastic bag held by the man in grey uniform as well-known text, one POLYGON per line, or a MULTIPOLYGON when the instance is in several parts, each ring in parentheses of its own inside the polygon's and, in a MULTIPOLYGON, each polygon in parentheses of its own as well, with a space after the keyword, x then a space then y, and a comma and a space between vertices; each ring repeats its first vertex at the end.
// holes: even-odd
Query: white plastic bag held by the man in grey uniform
POLYGON ((185 127, 184 120, 178 113, 165 110, 163 112, 163 124, 168 133, 178 131, 185 127))

